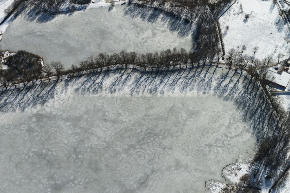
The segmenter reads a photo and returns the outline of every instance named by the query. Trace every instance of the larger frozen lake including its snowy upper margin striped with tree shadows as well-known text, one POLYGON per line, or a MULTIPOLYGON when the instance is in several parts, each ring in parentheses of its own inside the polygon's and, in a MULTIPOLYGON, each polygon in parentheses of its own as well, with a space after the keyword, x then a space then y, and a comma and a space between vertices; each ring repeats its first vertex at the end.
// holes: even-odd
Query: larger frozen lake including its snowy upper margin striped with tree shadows
POLYGON ((0 192, 204 192, 252 156, 234 102, 246 84, 206 66, 10 90, 0 101, 0 192))

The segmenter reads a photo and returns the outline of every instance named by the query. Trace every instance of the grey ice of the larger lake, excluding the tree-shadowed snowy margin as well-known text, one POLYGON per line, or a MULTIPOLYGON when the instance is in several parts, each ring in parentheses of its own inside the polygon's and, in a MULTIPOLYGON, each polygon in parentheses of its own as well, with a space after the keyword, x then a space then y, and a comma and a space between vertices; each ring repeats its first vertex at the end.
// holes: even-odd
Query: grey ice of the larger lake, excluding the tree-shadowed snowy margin
POLYGON ((233 102, 201 92, 56 90, 43 106, 0 119, 0 192, 204 192, 255 143, 233 102))

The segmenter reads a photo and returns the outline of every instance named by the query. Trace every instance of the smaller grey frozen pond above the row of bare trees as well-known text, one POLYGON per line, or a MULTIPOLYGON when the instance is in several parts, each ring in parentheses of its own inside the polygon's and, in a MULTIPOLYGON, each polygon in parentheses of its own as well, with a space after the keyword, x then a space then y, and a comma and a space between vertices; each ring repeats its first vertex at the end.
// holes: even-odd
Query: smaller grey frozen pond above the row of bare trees
MULTIPOLYGON (((175 19, 159 14, 148 22, 148 19, 130 13, 125 5, 115 6, 109 12, 108 7, 91 8, 71 16, 57 15, 44 22, 46 18, 28 17, 29 13, 25 12, 6 29, 1 49, 26 50, 40 55, 48 63, 61 61, 66 68, 73 63, 78 65, 81 60, 98 52, 191 49, 191 30, 181 35, 171 27, 172 23, 172 26, 178 25, 175 19)), ((183 25, 182 22, 179 25, 183 25)), ((178 28, 188 26, 190 24, 178 28)))

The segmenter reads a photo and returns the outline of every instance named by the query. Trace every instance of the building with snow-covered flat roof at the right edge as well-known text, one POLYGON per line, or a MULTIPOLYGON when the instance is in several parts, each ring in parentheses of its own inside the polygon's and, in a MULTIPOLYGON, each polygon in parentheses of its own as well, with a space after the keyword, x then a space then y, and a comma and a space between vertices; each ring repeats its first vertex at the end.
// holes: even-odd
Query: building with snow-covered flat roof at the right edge
POLYGON ((269 74, 268 82, 272 85, 286 88, 290 81, 290 74, 288 72, 268 70, 268 74, 269 74))

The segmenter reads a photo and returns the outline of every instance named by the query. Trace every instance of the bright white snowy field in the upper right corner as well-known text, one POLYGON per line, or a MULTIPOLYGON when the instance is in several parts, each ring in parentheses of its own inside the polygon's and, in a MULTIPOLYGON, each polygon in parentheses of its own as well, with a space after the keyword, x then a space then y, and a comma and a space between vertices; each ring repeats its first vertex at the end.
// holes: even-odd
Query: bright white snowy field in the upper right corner
POLYGON ((255 56, 260 59, 271 55, 274 61, 278 61, 279 53, 284 55, 283 58, 289 57, 289 28, 279 13, 278 6, 272 0, 237 0, 219 19, 225 49, 237 49, 246 45, 246 52, 252 55, 253 48, 258 46, 255 56), (240 13, 241 5, 243 13, 240 13), (247 20, 246 14, 250 14, 247 20), (226 26, 229 26, 227 31, 226 26))

